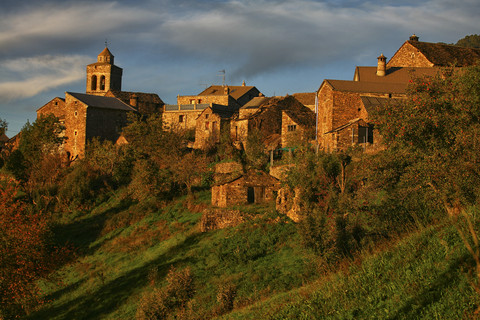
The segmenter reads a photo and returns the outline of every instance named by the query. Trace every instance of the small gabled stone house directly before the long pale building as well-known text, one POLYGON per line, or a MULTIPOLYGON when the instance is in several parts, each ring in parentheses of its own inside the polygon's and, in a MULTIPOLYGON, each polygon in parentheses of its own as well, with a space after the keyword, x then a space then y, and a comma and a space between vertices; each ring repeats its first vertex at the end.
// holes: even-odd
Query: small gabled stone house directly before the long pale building
POLYGON ((235 111, 227 106, 212 105, 203 110, 196 119, 195 149, 203 149, 211 143, 220 142, 220 135, 230 131, 230 118, 235 111))

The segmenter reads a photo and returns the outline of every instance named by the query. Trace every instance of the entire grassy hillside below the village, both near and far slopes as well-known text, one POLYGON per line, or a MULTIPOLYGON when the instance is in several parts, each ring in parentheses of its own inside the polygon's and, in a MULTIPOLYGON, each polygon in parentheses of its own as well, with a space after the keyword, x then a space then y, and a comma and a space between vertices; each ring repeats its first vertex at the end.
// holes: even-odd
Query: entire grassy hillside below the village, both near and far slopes
POLYGON ((134 319, 168 271, 190 268, 195 294, 178 318, 222 317, 219 292, 235 288, 225 319, 462 319, 477 305, 473 262, 455 230, 437 225, 326 268, 300 246, 296 226, 271 206, 246 206, 237 227, 200 232, 210 193, 162 209, 122 200, 62 217, 59 241, 78 250, 42 288, 29 319, 134 319), (190 205, 187 205, 190 203, 190 205))

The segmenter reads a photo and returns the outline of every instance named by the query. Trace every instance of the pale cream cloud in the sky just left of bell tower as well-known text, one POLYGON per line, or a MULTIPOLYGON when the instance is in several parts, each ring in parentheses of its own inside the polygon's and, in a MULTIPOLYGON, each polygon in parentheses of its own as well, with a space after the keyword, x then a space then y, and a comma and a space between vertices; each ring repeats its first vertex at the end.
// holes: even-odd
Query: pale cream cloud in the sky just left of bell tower
POLYGON ((0 63, 4 75, 11 75, 9 81, 0 82, 0 100, 33 97, 52 88, 64 86, 85 77, 85 65, 90 57, 44 55, 33 58, 19 58, 0 63))

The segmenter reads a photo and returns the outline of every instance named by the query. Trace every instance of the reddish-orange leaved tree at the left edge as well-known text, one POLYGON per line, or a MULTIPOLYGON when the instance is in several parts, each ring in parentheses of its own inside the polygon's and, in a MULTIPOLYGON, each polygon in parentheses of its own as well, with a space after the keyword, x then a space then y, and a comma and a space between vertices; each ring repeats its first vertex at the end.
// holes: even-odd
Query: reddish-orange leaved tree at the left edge
POLYGON ((0 186, 0 318, 27 313, 40 303, 37 280, 63 255, 52 249, 48 217, 33 213, 17 186, 0 186))

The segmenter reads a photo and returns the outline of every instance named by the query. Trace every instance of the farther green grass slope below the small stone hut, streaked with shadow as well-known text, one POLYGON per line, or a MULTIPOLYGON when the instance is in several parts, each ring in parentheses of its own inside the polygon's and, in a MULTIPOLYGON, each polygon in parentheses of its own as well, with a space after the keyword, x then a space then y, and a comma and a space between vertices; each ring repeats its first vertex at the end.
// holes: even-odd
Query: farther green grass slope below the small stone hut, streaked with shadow
MULTIPOLYGON (((255 219, 235 228, 201 233, 201 210, 209 192, 198 195, 191 212, 186 198, 162 209, 130 203, 121 195, 88 213, 63 216, 57 240, 78 248, 76 261, 42 287, 47 302, 30 319, 132 319, 148 274, 158 286, 168 270, 190 267, 198 314, 209 317, 218 287, 234 283, 237 304, 247 305, 300 286, 308 257, 298 246, 295 225, 271 206, 249 206, 255 219)), ((242 209, 239 207, 238 209, 242 209)))

